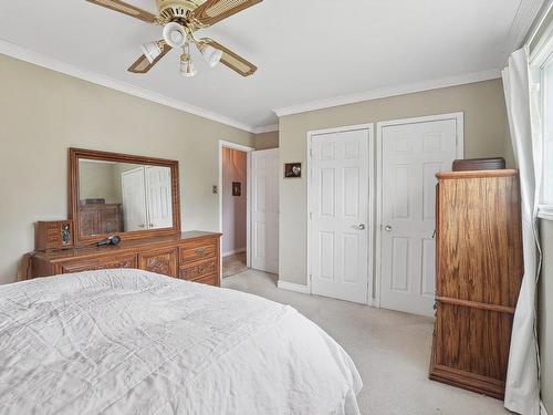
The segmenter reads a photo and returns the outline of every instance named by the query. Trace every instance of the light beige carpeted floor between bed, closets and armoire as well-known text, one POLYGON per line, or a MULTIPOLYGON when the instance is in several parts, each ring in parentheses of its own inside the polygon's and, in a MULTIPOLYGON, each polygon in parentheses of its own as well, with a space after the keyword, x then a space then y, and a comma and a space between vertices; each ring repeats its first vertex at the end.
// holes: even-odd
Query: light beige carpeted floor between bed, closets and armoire
POLYGON ((332 335, 364 381, 363 415, 500 415, 502 402, 428 380, 432 320, 276 288, 276 276, 248 270, 223 287, 290 304, 332 335))

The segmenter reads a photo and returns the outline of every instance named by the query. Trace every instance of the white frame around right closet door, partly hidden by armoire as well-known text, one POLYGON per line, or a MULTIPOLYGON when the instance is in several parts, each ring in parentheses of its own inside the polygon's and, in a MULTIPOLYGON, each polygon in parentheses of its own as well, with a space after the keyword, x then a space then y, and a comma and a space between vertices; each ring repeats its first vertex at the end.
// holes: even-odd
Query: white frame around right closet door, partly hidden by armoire
POLYGON ((383 121, 376 123, 376 252, 375 252, 375 298, 374 305, 380 308, 380 289, 382 289, 382 237, 383 237, 383 129, 384 127, 405 125, 405 124, 420 124, 428 122, 455 120, 457 126, 456 138, 456 156, 463 158, 465 156, 465 113, 447 113, 437 115, 427 115, 413 118, 399 118, 383 121))

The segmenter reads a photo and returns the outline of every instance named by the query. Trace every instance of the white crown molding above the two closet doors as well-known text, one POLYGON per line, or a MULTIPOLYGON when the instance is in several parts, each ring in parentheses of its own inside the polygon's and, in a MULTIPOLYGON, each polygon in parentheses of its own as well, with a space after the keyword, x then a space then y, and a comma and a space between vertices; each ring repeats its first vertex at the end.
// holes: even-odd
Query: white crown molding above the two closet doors
POLYGON ((325 100, 311 101, 304 104, 292 105, 288 107, 282 107, 278 110, 273 110, 276 116, 285 116, 292 114, 301 114, 310 111, 330 108, 333 106, 356 104, 364 101, 373 101, 387 98, 392 96, 413 94, 416 92, 424 92, 430 90, 439 90, 442 87, 457 86, 463 84, 470 84, 474 82, 489 81, 501 77, 500 70, 489 70, 478 73, 470 73, 467 75, 460 76, 450 76, 444 77, 441 80, 428 81, 428 82, 419 82, 413 84, 404 84, 395 87, 385 87, 378 90, 371 90, 361 93, 349 94, 349 95, 341 95, 325 100))

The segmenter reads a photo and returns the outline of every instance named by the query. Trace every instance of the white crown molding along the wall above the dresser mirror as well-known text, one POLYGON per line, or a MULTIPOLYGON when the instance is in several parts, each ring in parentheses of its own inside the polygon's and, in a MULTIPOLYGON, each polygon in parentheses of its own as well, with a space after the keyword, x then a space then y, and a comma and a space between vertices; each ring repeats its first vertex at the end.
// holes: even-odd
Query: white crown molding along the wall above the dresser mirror
POLYGON ((113 77, 104 76, 92 71, 84 70, 76 65, 63 62, 55 58, 50 58, 41 53, 31 51, 29 49, 19 46, 14 43, 8 42, 0 39, 0 54, 4 54, 11 58, 19 59, 28 63, 32 63, 38 66, 42 66, 55 72, 63 73, 73 77, 77 77, 83 81, 94 83, 96 85, 102 85, 111 90, 119 91, 128 95, 137 96, 143 100, 152 101, 157 104, 169 106, 175 110, 182 111, 188 114, 197 115, 207 120, 215 121, 238 129, 246 131, 248 133, 253 133, 255 128, 251 125, 243 124, 239 121, 229 118, 225 115, 213 113, 211 111, 188 104, 184 101, 175 100, 169 96, 153 92, 139 86, 134 86, 127 82, 118 81, 113 77))

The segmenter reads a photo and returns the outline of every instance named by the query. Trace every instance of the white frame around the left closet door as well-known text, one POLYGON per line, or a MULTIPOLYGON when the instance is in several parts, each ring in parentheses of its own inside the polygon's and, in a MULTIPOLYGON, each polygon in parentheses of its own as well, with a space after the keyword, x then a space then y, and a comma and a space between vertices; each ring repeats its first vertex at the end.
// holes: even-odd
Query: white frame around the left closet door
POLYGON ((307 290, 310 294, 313 294, 313 276, 312 276, 312 255, 311 248, 313 246, 312 242, 312 175, 313 175, 313 153, 312 153, 312 143, 313 137, 317 135, 324 134, 335 134, 335 133, 347 133, 353 131, 366 129, 368 132, 368 222, 367 222, 367 232, 368 232, 368 247, 367 247, 367 304, 373 305, 373 287, 374 287, 374 207, 375 207, 375 187, 374 187, 374 178, 375 178, 375 163, 374 163, 374 123, 368 124, 357 124, 357 125, 346 125, 335 128, 326 128, 326 129, 315 129, 307 132, 307 157, 306 157, 306 166, 305 172, 307 173, 307 290))

